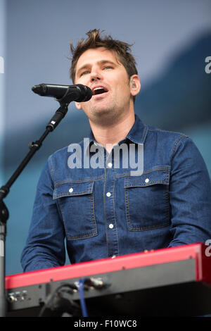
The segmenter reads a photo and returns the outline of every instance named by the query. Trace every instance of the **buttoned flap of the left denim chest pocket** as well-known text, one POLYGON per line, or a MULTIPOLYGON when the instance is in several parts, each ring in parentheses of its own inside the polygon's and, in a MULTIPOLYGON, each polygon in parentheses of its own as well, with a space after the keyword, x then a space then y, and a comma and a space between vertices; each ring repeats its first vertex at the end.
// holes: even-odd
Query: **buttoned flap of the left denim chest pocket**
POLYGON ((94 182, 66 182, 58 184, 53 190, 53 199, 58 199, 62 196, 91 194, 93 187, 94 182))

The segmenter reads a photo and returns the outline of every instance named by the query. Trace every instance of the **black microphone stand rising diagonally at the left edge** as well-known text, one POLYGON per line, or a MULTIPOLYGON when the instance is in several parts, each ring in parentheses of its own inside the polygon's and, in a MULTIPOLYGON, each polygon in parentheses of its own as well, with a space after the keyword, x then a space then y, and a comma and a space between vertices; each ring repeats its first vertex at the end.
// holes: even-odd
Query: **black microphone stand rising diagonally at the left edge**
POLYGON ((73 101, 72 95, 65 94, 63 98, 56 99, 56 101, 60 103, 60 107, 53 115, 49 123, 46 125, 44 134, 41 135, 41 137, 36 142, 30 142, 30 152, 28 152, 27 156, 25 156, 11 178, 8 180, 8 182, 6 182, 6 185, 0 188, 0 317, 5 317, 7 312, 5 290, 5 242, 6 223, 9 218, 9 212, 8 208, 4 204, 3 199, 8 195, 13 182, 15 182, 27 163, 29 163, 32 156, 34 156, 36 151, 41 147, 42 142, 47 137, 47 135, 49 135, 49 132, 52 132, 57 127, 58 123, 60 123, 60 120, 65 117, 66 113, 68 112, 68 106, 70 102, 73 101))

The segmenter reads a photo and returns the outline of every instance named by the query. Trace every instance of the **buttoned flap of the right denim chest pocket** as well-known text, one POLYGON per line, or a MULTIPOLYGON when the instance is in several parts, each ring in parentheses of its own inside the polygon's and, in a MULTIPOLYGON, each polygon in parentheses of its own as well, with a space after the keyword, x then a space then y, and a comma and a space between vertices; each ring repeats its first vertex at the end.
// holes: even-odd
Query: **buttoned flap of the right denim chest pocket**
POLYGON ((145 187, 155 184, 169 185, 169 182, 170 171, 153 170, 151 172, 143 173, 141 176, 126 177, 124 181, 124 188, 145 187))

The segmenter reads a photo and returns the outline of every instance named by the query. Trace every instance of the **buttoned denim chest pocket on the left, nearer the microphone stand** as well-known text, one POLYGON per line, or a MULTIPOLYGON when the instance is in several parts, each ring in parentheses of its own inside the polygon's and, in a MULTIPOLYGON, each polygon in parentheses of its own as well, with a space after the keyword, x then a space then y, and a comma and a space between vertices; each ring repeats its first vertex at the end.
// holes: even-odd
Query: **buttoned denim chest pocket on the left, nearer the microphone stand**
POLYGON ((97 235, 94 214, 94 182, 66 182, 53 192, 63 216, 68 240, 97 235))

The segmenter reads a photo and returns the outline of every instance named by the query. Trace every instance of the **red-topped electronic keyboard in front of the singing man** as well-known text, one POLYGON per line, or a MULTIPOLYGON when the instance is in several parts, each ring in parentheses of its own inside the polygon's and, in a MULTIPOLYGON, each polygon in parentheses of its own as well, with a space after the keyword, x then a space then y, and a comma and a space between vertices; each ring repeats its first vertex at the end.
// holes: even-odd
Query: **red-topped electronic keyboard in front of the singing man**
POLYGON ((72 301, 79 302, 77 282, 82 278, 89 284, 84 298, 96 316, 102 311, 143 316, 211 313, 210 255, 210 246, 189 244, 6 276, 8 316, 33 316, 64 283, 75 287, 72 301), (98 281, 101 287, 95 286, 98 281))

